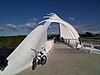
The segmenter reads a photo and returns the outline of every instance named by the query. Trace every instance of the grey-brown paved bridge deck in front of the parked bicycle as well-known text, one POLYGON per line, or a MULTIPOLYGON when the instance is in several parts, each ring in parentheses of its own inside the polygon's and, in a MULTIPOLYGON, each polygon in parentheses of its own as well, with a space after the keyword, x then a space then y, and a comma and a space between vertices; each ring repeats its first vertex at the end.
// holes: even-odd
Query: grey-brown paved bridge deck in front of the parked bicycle
POLYGON ((31 67, 17 75, 100 75, 100 55, 74 50, 56 43, 44 66, 31 67))

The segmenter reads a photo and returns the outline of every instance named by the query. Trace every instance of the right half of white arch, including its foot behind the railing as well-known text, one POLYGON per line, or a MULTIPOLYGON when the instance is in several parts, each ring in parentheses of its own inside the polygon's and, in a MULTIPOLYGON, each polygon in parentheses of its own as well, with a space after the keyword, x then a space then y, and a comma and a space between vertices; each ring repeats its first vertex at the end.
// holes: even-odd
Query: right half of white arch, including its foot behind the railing
POLYGON ((48 18, 42 22, 45 23, 52 23, 52 22, 57 22, 59 23, 60 26, 60 37, 63 37, 65 42, 72 46, 73 48, 76 48, 78 46, 79 42, 79 34, 76 31, 76 29, 69 24, 68 22, 62 20, 61 18, 59 18, 55 13, 51 13, 49 14, 49 16, 45 16, 44 18, 48 18))

